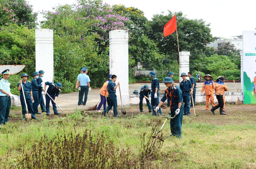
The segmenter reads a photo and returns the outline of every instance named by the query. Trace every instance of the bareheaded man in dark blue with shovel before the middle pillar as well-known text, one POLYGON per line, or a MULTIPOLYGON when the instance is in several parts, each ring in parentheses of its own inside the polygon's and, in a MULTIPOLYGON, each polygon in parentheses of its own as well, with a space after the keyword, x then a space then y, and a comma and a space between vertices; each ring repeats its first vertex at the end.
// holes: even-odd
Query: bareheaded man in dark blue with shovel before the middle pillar
POLYGON ((118 115, 117 112, 117 98, 116 98, 116 88, 118 87, 118 85, 120 85, 120 82, 117 83, 117 85, 115 85, 115 81, 116 81, 117 76, 116 75, 112 75, 111 80, 108 83, 107 86, 107 90, 109 92, 109 105, 108 107, 102 112, 102 114, 104 116, 106 116, 106 113, 109 112, 109 110, 113 107, 114 111, 114 117, 120 117, 120 115, 118 115))

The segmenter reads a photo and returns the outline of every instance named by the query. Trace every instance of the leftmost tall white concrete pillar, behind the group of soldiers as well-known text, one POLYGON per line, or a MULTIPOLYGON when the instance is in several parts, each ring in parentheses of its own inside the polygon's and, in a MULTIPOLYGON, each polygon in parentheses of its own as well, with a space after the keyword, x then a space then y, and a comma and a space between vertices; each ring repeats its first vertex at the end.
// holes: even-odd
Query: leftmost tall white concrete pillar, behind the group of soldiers
POLYGON ((53 82, 53 30, 36 29, 36 71, 45 71, 42 80, 53 82))

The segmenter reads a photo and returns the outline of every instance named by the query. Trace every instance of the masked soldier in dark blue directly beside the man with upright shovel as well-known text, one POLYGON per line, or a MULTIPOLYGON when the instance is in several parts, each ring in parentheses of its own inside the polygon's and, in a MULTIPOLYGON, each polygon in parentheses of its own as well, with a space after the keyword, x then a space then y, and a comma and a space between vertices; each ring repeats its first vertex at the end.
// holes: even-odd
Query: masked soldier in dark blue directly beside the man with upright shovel
POLYGON ((33 98, 34 98, 34 103, 32 104, 33 105, 33 110, 34 110, 34 113, 35 114, 41 114, 38 112, 38 105, 40 104, 39 102, 39 96, 38 96, 38 88, 41 87, 42 88, 42 85, 44 85, 44 82, 38 84, 37 83, 37 79, 38 79, 38 76, 39 73, 38 72, 34 72, 32 76, 34 76, 32 82, 31 82, 31 87, 32 87, 32 93, 33 93, 33 98))

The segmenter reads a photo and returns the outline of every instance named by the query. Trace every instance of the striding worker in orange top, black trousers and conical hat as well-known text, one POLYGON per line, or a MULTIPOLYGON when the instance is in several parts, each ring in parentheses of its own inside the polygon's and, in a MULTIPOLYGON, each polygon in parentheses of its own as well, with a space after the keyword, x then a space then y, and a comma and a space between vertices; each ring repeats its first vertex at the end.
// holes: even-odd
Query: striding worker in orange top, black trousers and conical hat
POLYGON ((213 114, 215 114, 214 111, 216 109, 220 108, 220 115, 226 115, 226 113, 223 113, 223 106, 224 106, 223 95, 224 95, 225 91, 228 91, 228 86, 224 83, 224 80, 226 80, 226 79, 227 79, 227 77, 225 77, 225 76, 219 76, 216 80, 214 90, 216 92, 216 98, 218 100, 218 105, 211 108, 211 112, 213 114))

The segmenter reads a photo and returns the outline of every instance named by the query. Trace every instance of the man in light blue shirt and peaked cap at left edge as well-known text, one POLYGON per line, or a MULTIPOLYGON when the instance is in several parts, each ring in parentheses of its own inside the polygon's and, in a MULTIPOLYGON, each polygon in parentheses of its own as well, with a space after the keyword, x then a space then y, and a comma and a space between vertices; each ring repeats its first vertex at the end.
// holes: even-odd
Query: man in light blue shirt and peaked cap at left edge
POLYGON ((11 97, 18 100, 18 96, 11 93, 10 83, 7 80, 10 74, 9 71, 9 69, 4 70, 2 72, 3 78, 0 80, 0 125, 4 125, 9 120, 11 97))

